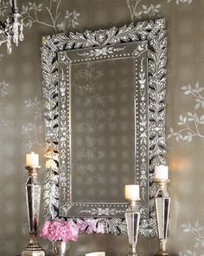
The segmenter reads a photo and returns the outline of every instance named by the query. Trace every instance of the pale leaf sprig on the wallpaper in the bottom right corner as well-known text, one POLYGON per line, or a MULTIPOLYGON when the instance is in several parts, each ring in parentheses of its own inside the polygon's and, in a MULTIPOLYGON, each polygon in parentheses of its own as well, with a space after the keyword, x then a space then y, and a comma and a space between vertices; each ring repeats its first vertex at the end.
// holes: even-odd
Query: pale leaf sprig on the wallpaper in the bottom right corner
POLYGON ((182 224, 183 233, 190 233, 194 237, 194 248, 193 250, 187 250, 185 253, 180 252, 179 256, 204 256, 201 254, 201 250, 204 247, 204 235, 201 232, 204 230, 203 226, 200 226, 199 220, 194 223, 192 226, 189 222, 182 224))

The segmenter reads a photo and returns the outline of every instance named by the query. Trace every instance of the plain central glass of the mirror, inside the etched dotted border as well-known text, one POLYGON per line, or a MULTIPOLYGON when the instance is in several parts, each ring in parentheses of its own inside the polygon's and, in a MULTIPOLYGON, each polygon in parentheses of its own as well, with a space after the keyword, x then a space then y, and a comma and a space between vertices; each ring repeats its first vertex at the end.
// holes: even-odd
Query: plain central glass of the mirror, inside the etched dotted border
POLYGON ((71 69, 73 201, 122 203, 124 184, 134 181, 132 66, 121 59, 71 69))

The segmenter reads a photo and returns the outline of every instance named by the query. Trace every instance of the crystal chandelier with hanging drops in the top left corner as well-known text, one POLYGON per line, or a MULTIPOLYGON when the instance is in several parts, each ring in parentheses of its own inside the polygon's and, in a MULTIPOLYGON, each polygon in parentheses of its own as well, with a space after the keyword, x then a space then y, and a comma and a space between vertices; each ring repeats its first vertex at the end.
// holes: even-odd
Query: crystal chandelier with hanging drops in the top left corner
MULTIPOLYGON (((0 0, 1 8, 2 0, 0 0)), ((11 0, 11 13, 7 16, 6 20, 2 23, 0 21, 0 46, 3 43, 7 44, 7 52, 11 53, 11 42, 13 41, 18 46, 18 41, 23 40, 22 35, 22 16, 18 13, 16 0, 11 0)))

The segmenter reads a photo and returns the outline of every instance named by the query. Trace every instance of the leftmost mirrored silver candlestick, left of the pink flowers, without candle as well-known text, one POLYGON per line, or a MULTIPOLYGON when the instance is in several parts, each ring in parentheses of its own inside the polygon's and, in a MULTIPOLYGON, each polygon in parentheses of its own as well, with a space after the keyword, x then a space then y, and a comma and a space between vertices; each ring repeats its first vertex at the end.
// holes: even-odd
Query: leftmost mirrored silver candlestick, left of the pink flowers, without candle
POLYGON ((26 202, 29 217, 29 246, 22 251, 22 256, 45 256, 45 251, 37 241, 38 221, 41 201, 41 185, 37 182, 40 167, 26 167, 29 179, 26 182, 26 202))

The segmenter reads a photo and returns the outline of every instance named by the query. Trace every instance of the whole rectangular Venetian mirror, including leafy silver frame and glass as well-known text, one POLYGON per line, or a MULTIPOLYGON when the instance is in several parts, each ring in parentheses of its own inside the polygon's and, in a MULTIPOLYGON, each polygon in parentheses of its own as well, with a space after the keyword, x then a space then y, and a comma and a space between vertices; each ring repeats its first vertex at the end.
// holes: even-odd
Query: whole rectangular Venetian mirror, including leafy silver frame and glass
POLYGON ((93 220, 106 233, 124 233, 124 185, 135 183, 140 233, 156 234, 152 174, 166 152, 164 29, 160 19, 44 38, 46 218, 93 220))

